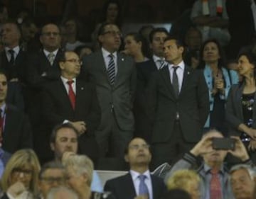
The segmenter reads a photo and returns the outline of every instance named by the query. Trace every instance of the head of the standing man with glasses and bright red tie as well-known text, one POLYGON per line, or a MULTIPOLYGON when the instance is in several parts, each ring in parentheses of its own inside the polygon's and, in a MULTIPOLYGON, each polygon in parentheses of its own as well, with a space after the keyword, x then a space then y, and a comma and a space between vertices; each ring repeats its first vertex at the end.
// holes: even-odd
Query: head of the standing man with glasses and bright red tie
POLYGON ((75 52, 65 52, 65 62, 60 62, 61 75, 73 79, 80 74, 81 61, 75 52))

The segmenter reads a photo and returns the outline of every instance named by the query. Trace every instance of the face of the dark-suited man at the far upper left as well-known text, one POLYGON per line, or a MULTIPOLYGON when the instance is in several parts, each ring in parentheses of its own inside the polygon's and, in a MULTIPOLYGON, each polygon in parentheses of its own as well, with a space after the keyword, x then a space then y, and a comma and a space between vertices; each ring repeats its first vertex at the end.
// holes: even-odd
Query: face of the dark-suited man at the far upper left
POLYGON ((18 31, 16 24, 5 23, 1 30, 2 42, 7 47, 16 47, 21 38, 21 34, 18 31))

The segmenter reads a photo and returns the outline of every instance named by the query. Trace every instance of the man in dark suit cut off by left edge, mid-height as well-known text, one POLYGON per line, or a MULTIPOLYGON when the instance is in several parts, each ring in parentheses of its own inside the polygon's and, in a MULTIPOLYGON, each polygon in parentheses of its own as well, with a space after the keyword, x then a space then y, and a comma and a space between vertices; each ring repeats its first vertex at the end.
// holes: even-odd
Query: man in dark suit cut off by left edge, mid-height
POLYGON ((32 147, 32 132, 28 117, 15 106, 6 103, 7 78, 0 72, 0 145, 13 154, 18 149, 32 147))

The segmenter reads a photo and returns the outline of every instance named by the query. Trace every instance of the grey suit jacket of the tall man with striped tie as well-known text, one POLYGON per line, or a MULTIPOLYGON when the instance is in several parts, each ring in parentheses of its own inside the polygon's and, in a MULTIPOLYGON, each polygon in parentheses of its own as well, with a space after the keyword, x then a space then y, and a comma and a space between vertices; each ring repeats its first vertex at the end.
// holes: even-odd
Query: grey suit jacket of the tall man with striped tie
POLYGON ((112 111, 121 130, 134 130, 132 104, 137 76, 133 59, 117 53, 117 75, 112 86, 100 50, 85 57, 82 64, 82 77, 94 82, 96 86, 102 111, 98 130, 104 130, 107 127, 112 111))

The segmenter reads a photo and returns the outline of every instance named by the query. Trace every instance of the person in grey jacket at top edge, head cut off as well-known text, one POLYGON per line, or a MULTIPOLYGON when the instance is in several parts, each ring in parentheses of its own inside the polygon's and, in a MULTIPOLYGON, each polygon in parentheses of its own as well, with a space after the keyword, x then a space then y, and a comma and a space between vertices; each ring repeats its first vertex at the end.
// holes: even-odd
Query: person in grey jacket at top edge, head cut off
POLYGON ((228 13, 224 0, 195 1, 191 19, 201 30, 203 41, 215 38, 220 45, 228 45, 230 33, 228 32, 228 13))

